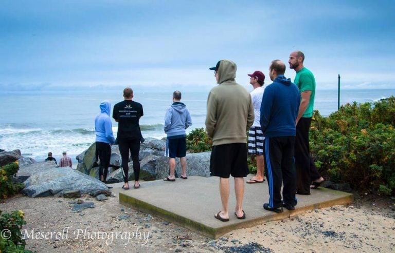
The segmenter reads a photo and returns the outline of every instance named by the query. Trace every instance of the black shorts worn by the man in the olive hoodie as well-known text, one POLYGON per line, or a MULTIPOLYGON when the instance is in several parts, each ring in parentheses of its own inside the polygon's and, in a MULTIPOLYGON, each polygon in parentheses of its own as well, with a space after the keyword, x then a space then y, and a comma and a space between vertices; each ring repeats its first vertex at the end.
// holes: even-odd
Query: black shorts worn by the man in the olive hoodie
POLYGON ((247 165, 247 144, 230 143, 212 146, 210 157, 211 176, 244 178, 249 173, 247 165))

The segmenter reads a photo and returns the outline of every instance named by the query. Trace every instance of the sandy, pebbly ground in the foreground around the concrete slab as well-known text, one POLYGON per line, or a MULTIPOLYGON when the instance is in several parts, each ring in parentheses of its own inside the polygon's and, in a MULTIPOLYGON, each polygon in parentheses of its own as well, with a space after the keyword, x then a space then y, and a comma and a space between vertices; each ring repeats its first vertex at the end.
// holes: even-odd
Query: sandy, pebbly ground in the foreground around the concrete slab
POLYGON ((101 202, 82 196, 95 208, 81 212, 71 211, 73 199, 22 195, 3 201, 0 208, 25 211, 26 248, 37 252, 395 251, 395 201, 389 199, 356 197, 349 206, 312 210, 211 240, 120 205, 116 191, 101 202))

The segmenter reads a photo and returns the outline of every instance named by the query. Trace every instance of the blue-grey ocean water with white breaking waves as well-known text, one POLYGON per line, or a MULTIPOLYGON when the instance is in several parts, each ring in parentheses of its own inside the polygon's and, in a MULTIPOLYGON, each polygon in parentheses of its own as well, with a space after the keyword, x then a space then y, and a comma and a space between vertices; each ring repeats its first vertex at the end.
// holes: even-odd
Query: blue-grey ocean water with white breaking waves
MULTIPOLYGON (((252 87, 247 87, 249 91, 252 87)), ((136 88, 134 101, 142 104, 140 119, 143 137, 163 138, 166 109, 172 104, 172 91, 136 88)), ((182 102, 191 113, 192 127, 204 127, 209 87, 183 91, 182 102)), ((340 104, 375 102, 395 95, 395 89, 343 90, 340 104)), ((122 90, 40 91, 0 93, 0 149, 20 149, 26 157, 43 161, 51 151, 58 161, 62 151, 76 163, 75 157, 95 142, 94 120, 103 100, 114 104, 123 100, 122 90)), ((322 115, 337 110, 337 90, 316 90, 315 109, 322 115)), ((112 114, 111 114, 112 115, 112 114)), ((116 136, 118 123, 113 120, 116 136)), ((74 166, 73 166, 74 167, 74 166)))

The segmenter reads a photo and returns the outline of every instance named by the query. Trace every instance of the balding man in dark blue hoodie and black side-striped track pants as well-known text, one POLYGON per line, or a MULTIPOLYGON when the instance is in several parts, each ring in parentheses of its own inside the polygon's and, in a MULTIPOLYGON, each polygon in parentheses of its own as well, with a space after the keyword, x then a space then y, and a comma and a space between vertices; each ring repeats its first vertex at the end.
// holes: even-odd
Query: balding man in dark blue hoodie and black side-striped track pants
POLYGON ((269 203, 263 204, 263 208, 282 212, 282 207, 293 210, 297 204, 294 150, 300 92, 290 79, 285 78, 285 64, 280 60, 272 62, 269 73, 273 83, 263 93, 260 119, 269 186, 269 203), (283 201, 281 184, 284 185, 283 201))

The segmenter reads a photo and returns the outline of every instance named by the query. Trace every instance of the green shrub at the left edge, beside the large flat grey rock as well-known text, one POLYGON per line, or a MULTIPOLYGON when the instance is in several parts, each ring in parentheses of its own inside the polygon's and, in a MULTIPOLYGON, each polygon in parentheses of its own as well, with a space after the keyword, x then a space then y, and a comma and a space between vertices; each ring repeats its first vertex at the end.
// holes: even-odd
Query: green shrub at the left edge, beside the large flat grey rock
POLYGON ((23 184, 15 184, 12 182, 12 176, 18 172, 18 162, 13 162, 0 167, 0 199, 7 199, 19 192, 23 188, 23 184))

